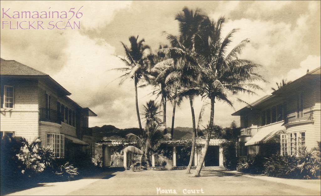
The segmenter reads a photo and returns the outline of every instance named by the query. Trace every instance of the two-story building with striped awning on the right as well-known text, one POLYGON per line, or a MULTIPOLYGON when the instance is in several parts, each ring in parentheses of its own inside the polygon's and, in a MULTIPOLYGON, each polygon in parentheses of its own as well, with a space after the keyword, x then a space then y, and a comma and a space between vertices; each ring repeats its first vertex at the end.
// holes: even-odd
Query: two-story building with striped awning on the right
POLYGON ((320 67, 236 111, 237 156, 298 155, 321 140, 320 67))

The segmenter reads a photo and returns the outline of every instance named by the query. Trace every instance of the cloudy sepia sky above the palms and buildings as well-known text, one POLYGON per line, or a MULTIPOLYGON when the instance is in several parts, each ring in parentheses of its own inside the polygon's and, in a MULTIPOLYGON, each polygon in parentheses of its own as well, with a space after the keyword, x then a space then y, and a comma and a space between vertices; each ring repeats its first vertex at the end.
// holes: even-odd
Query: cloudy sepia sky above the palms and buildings
MULTIPOLYGON (((269 83, 259 83, 265 91, 257 92, 257 96, 243 95, 247 102, 271 93, 271 87, 282 78, 293 81, 307 69, 320 66, 320 1, 1 1, 1 58, 19 61, 53 77, 72 93, 72 99, 98 114, 90 118, 90 126, 138 127, 134 81, 119 86, 115 79, 121 73, 109 70, 125 66, 117 56, 124 55, 120 42, 128 44, 129 36, 139 35, 156 50, 159 44, 168 43, 163 31, 178 35, 175 16, 184 6, 200 8, 213 20, 225 16, 223 35, 239 28, 230 47, 250 39, 241 58, 262 65, 258 73, 269 83), (13 19, 3 14, 12 17, 14 11, 68 12, 70 8, 75 12, 81 8, 82 17, 69 20, 71 24, 80 22, 80 29, 47 29, 51 27, 49 21, 63 21, 57 23, 62 28, 67 19, 25 19, 21 15, 13 19), (44 30, 14 29, 16 22, 37 20, 44 22, 44 30), (12 29, 8 22, 12 22, 12 29)), ((151 91, 151 87, 138 90, 141 112, 142 105, 155 98, 149 95, 151 91)), ((196 116, 201 105, 201 99, 195 99, 196 116)), ((239 123, 239 118, 230 114, 244 106, 236 103, 233 109, 217 102, 215 123, 223 127, 233 120, 239 123)), ((171 111, 168 104, 168 126, 171 111)), ((175 117, 175 126, 192 126, 189 102, 177 108, 175 117)), ((203 118, 206 126, 209 108, 203 118)))

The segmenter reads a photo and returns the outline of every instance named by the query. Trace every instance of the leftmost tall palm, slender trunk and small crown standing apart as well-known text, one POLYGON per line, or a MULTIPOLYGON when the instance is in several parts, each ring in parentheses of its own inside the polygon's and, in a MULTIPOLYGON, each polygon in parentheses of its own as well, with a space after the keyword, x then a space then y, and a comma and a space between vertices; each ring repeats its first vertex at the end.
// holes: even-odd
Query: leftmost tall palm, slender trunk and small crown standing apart
POLYGON ((134 89, 135 89, 135 103, 136 103, 136 113, 138 119, 139 129, 141 134, 143 134, 142 123, 139 115, 138 108, 138 98, 137 98, 137 84, 140 80, 144 79, 149 81, 148 71, 150 69, 150 65, 148 63, 148 58, 145 55, 146 49, 149 49, 149 46, 144 45, 144 39, 138 40, 138 36, 129 37, 130 48, 128 48, 123 42, 122 45, 125 49, 126 56, 124 58, 119 57, 121 61, 123 61, 127 67, 116 68, 116 70, 124 71, 126 74, 120 76, 121 81, 119 84, 121 85, 127 78, 134 79, 134 89))

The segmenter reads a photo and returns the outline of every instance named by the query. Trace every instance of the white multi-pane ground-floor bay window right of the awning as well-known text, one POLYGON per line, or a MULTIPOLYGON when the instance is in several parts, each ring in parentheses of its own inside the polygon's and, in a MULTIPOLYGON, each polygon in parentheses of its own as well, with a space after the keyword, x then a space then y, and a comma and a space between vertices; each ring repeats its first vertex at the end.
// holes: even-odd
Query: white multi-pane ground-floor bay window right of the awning
POLYGON ((299 155, 305 150, 305 132, 281 134, 281 155, 299 155))

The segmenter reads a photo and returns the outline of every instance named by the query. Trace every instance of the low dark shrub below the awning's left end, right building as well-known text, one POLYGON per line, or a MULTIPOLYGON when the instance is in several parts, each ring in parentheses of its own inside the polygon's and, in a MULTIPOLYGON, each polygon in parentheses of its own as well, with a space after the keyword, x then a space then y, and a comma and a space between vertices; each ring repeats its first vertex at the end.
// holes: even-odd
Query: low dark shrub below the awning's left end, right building
POLYGON ((249 174, 262 174, 265 159, 260 155, 247 155, 240 160, 237 171, 249 174))

